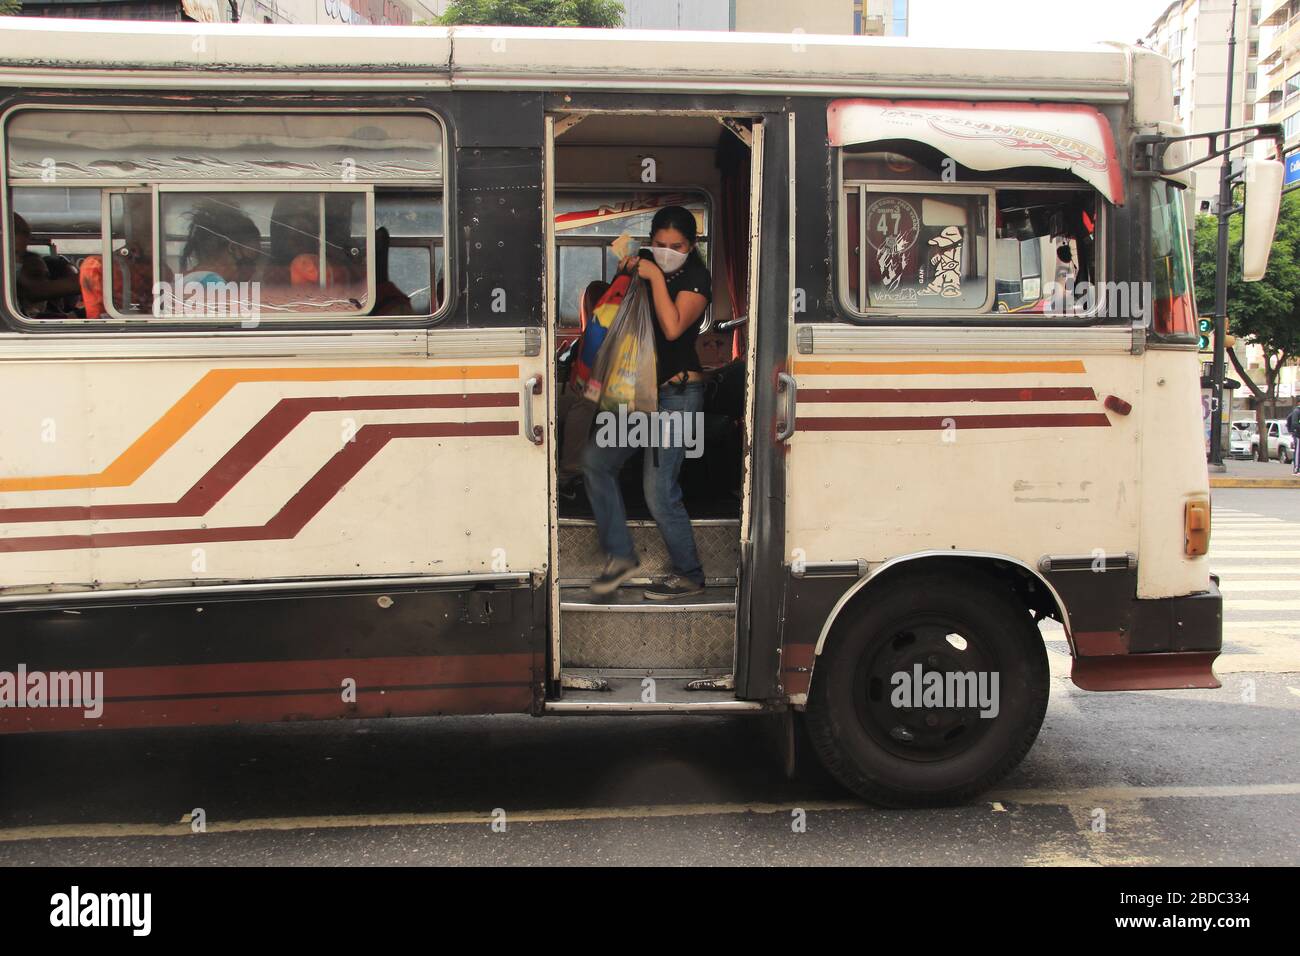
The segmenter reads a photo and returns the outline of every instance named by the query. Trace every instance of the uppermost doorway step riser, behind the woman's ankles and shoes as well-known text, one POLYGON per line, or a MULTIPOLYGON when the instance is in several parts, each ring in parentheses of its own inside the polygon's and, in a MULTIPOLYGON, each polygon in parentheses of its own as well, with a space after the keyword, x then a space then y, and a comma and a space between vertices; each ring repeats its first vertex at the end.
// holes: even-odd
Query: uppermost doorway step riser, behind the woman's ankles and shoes
MULTIPOLYGON (((733 518, 703 518, 690 523, 696 549, 705 570, 705 583, 734 585, 740 566, 740 522, 733 518)), ((672 574, 663 535, 654 522, 628 522, 632 541, 641 557, 641 570, 632 584, 650 584, 672 574)), ((559 527, 560 584, 590 584, 604 570, 604 553, 595 536, 595 522, 588 518, 562 518, 559 527)))

